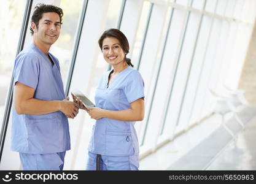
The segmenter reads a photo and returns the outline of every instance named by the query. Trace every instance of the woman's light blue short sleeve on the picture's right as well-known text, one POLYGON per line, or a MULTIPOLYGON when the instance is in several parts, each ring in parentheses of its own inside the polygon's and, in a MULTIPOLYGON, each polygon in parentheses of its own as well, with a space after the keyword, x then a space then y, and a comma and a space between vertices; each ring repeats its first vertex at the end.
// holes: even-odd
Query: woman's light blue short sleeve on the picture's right
POLYGON ((123 91, 129 103, 144 98, 144 81, 138 71, 132 71, 127 76, 123 91))

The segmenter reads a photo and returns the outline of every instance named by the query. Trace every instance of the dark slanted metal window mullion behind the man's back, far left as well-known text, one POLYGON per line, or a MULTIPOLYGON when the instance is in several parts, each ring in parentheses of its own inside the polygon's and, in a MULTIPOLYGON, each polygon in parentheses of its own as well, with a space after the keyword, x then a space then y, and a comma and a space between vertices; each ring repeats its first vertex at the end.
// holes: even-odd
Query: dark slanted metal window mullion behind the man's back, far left
MULTIPOLYGON (((29 23, 29 15, 31 12, 33 0, 27 0, 26 1, 26 7, 25 7, 25 13, 23 17, 23 22, 21 26, 21 31, 20 31, 20 39, 18 40, 18 47, 17 47, 17 53, 21 52, 24 47, 25 43, 25 38, 26 38, 26 30, 28 28, 28 23, 29 23)), ((12 97, 13 97, 13 91, 14 91, 14 77, 13 77, 14 71, 12 71, 12 79, 10 80, 10 86, 9 86, 9 91, 7 94, 7 101, 6 101, 6 109, 4 110, 4 118, 2 121, 2 129, 1 129, 1 134, 0 134, 0 163, 1 163, 1 158, 2 158, 2 151, 4 149, 4 141, 6 139, 6 132, 8 128, 8 123, 9 123, 9 118, 10 118, 10 112, 12 109, 12 97)))

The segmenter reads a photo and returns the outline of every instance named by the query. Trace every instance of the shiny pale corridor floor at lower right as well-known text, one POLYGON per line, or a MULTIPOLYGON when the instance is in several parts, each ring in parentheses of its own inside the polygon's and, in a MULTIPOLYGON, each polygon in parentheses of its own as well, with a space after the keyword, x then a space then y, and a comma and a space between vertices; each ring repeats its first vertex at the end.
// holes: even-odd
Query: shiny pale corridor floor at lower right
POLYGON ((241 107, 238 117, 228 114, 226 125, 213 115, 140 161, 140 170, 255 170, 256 106, 241 107))

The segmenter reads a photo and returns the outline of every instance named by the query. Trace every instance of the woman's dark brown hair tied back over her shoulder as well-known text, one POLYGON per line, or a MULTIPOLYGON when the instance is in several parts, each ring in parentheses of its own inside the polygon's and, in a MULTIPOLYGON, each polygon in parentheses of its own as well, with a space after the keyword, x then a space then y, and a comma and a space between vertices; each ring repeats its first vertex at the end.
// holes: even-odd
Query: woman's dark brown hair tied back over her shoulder
MULTIPOLYGON (((120 46, 123 49, 123 52, 125 52, 126 54, 129 53, 129 49, 130 49, 129 42, 125 34, 123 34, 119 29, 107 29, 106 31, 104 31, 103 35, 101 35, 98 41, 101 51, 103 50, 103 40, 106 39, 106 37, 115 37, 116 39, 118 39, 118 41, 120 42, 120 46)), ((126 63, 131 67, 133 67, 133 64, 131 64, 131 59, 126 58, 126 54, 125 54, 126 63)))

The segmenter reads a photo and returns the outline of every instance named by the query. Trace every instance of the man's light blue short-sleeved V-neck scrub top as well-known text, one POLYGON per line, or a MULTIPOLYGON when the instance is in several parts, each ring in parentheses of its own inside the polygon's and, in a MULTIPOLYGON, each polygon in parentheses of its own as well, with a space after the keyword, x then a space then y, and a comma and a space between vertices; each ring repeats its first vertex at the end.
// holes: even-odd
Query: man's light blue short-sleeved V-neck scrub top
MULTIPOLYGON (((31 44, 15 59, 14 84, 16 82, 34 88, 34 98, 44 101, 65 98, 58 59, 54 62, 31 44)), ((68 118, 58 111, 44 115, 28 115, 15 112, 12 105, 11 150, 21 153, 57 153, 70 149, 68 118)))

